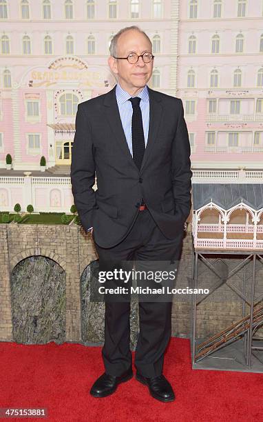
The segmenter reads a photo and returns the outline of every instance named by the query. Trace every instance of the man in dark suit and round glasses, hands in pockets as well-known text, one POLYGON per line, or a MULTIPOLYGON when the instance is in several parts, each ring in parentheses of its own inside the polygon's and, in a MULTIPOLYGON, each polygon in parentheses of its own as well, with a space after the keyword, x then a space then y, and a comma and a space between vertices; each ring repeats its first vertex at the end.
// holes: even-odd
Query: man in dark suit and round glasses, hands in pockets
MULTIPOLYGON (((151 48, 138 27, 120 30, 108 59, 117 85, 78 105, 72 194, 83 228, 92 230, 100 270, 109 262, 180 257, 191 209, 189 138, 182 101, 147 86, 154 63, 151 48)), ((129 310, 129 301, 105 299, 105 372, 90 390, 95 397, 112 394, 133 376, 129 310)), ((171 301, 141 301, 139 317, 136 379, 155 399, 173 401, 162 374, 171 301)))

